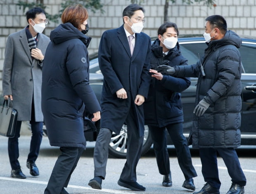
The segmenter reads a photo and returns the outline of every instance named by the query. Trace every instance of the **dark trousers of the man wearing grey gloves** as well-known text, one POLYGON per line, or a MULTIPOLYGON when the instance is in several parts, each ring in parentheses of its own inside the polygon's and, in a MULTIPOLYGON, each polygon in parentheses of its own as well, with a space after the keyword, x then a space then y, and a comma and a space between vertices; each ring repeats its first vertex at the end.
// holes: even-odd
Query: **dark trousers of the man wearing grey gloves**
POLYGON ((220 188, 221 183, 218 175, 217 152, 228 168, 228 174, 232 182, 240 186, 245 186, 246 178, 234 148, 199 148, 204 181, 208 182, 212 187, 220 188))

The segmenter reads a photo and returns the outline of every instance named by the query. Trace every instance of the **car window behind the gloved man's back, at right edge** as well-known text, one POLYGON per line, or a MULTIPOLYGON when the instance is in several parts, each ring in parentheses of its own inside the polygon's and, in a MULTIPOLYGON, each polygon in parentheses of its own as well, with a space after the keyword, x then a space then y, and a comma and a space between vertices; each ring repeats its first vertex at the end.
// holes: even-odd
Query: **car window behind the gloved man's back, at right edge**
POLYGON ((242 43, 242 46, 239 48, 241 53, 241 60, 244 67, 245 73, 256 73, 256 45, 250 43, 242 43))

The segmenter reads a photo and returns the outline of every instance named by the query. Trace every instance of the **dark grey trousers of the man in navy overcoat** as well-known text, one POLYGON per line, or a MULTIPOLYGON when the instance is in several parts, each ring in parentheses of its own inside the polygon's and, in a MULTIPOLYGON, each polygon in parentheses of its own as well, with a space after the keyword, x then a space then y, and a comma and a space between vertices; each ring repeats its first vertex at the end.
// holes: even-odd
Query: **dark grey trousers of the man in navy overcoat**
MULTIPOLYGON (((114 122, 114 121, 113 121, 114 122)), ((139 137, 139 131, 135 124, 133 111, 130 111, 126 118, 128 146, 126 153, 126 163, 123 167, 120 178, 128 182, 135 182, 136 167, 140 159, 144 136, 139 137)), ((94 148, 94 176, 101 176, 105 179, 108 159, 108 147, 111 140, 112 131, 101 128, 94 148)))

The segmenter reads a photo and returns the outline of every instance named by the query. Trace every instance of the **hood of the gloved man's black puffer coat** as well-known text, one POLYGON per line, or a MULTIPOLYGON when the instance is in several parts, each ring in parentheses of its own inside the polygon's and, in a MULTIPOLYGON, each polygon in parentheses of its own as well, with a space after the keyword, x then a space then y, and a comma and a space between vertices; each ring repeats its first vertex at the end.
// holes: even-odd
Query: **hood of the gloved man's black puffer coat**
POLYGON ((239 48, 242 44, 242 39, 235 32, 228 30, 225 36, 220 40, 213 40, 209 43, 209 46, 220 47, 223 45, 234 45, 239 48))

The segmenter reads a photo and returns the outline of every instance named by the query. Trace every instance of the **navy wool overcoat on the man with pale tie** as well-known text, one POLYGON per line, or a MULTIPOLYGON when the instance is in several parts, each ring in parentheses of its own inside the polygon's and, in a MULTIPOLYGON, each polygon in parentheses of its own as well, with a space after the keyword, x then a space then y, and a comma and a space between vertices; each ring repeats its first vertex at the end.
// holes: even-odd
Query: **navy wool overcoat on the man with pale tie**
POLYGON ((150 52, 151 40, 145 33, 135 33, 133 56, 123 25, 102 34, 99 47, 99 65, 104 76, 102 128, 109 128, 119 134, 129 110, 132 109, 138 133, 140 136, 144 135, 143 104, 137 106, 134 100, 136 95, 147 98, 150 52), (126 90, 127 99, 117 98, 116 91, 121 88, 126 90))

